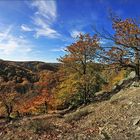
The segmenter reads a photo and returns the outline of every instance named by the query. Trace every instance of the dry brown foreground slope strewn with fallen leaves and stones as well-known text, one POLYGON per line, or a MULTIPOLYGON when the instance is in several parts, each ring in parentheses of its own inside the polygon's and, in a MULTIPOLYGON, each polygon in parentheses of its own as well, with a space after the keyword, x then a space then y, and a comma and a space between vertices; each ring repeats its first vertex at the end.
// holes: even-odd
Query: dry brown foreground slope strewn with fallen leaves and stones
POLYGON ((139 140, 140 88, 121 90, 111 99, 78 108, 71 113, 46 114, 0 125, 7 140, 139 140))

